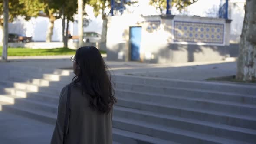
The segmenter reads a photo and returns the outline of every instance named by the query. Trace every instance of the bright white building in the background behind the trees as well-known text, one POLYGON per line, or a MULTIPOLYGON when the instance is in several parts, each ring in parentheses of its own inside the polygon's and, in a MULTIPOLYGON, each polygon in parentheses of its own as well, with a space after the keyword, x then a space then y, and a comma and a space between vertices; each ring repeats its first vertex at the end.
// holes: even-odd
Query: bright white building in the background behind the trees
MULTIPOLYGON (((149 0, 139 0, 136 7, 128 7, 126 13, 134 13, 138 15, 155 15, 160 14, 153 6, 148 4, 149 0)), ((233 20, 231 22, 231 43, 238 43, 240 33, 243 26, 244 17, 244 3, 245 0, 229 0, 229 18, 233 20)), ((219 10, 220 0, 198 0, 183 10, 182 15, 198 15, 202 17, 217 17, 219 10)), ((89 18, 91 20, 89 26, 84 28, 84 31, 94 31, 101 33, 102 31, 102 19, 101 16, 97 18, 94 16, 92 7, 85 7, 89 18)), ((171 9, 172 14, 180 14, 175 7, 171 9)), ((9 33, 19 33, 26 36, 32 36, 34 41, 45 41, 46 31, 48 27, 49 19, 47 17, 36 17, 26 21, 19 17, 16 21, 9 24, 9 33)), ((78 34, 78 28, 76 22, 69 23, 69 30, 72 35, 78 34)), ((0 37, 3 33, 0 33, 0 37)), ((53 41, 62 41, 62 22, 56 20, 53 28, 53 41)))

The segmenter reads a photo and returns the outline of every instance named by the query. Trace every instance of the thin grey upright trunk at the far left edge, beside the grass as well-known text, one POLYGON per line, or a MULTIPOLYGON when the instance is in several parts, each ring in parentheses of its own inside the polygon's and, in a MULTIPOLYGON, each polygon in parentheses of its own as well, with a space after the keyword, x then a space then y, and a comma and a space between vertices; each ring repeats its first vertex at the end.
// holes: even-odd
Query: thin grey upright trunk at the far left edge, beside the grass
POLYGON ((3 53, 2 60, 7 61, 7 47, 8 47, 8 20, 9 20, 9 2, 3 0, 3 53))

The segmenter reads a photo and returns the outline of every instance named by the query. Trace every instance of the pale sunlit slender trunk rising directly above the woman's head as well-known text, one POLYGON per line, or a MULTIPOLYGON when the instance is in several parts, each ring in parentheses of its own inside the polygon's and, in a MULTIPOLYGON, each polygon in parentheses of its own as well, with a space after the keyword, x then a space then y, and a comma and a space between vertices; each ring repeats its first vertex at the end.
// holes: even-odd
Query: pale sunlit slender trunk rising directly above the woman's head
POLYGON ((83 13, 84 13, 84 3, 83 0, 78 0, 78 35, 79 35, 79 47, 83 46, 83 13))

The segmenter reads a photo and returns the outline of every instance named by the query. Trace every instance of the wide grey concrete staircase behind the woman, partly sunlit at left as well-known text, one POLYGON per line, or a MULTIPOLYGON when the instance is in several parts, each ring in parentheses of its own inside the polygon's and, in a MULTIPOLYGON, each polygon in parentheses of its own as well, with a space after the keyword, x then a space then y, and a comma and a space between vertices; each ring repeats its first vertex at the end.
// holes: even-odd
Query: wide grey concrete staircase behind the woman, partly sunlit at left
MULTIPOLYGON (((71 79, 66 70, 10 74, 0 80, 0 109, 55 124, 60 90, 71 79)), ((255 85, 113 79, 115 143, 256 144, 255 85)))

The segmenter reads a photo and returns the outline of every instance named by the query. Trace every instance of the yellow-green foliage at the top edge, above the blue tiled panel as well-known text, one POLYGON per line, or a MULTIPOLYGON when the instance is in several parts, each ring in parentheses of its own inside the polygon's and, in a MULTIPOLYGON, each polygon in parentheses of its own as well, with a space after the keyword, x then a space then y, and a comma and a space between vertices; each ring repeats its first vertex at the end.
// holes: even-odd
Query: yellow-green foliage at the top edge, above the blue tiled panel
MULTIPOLYGON (((166 9, 167 0, 150 0, 150 4, 154 7, 156 7, 161 12, 166 9)), ((170 0, 171 6, 174 6, 177 8, 177 10, 181 11, 185 7, 189 6, 190 4, 193 4, 197 2, 198 0, 170 0)))

